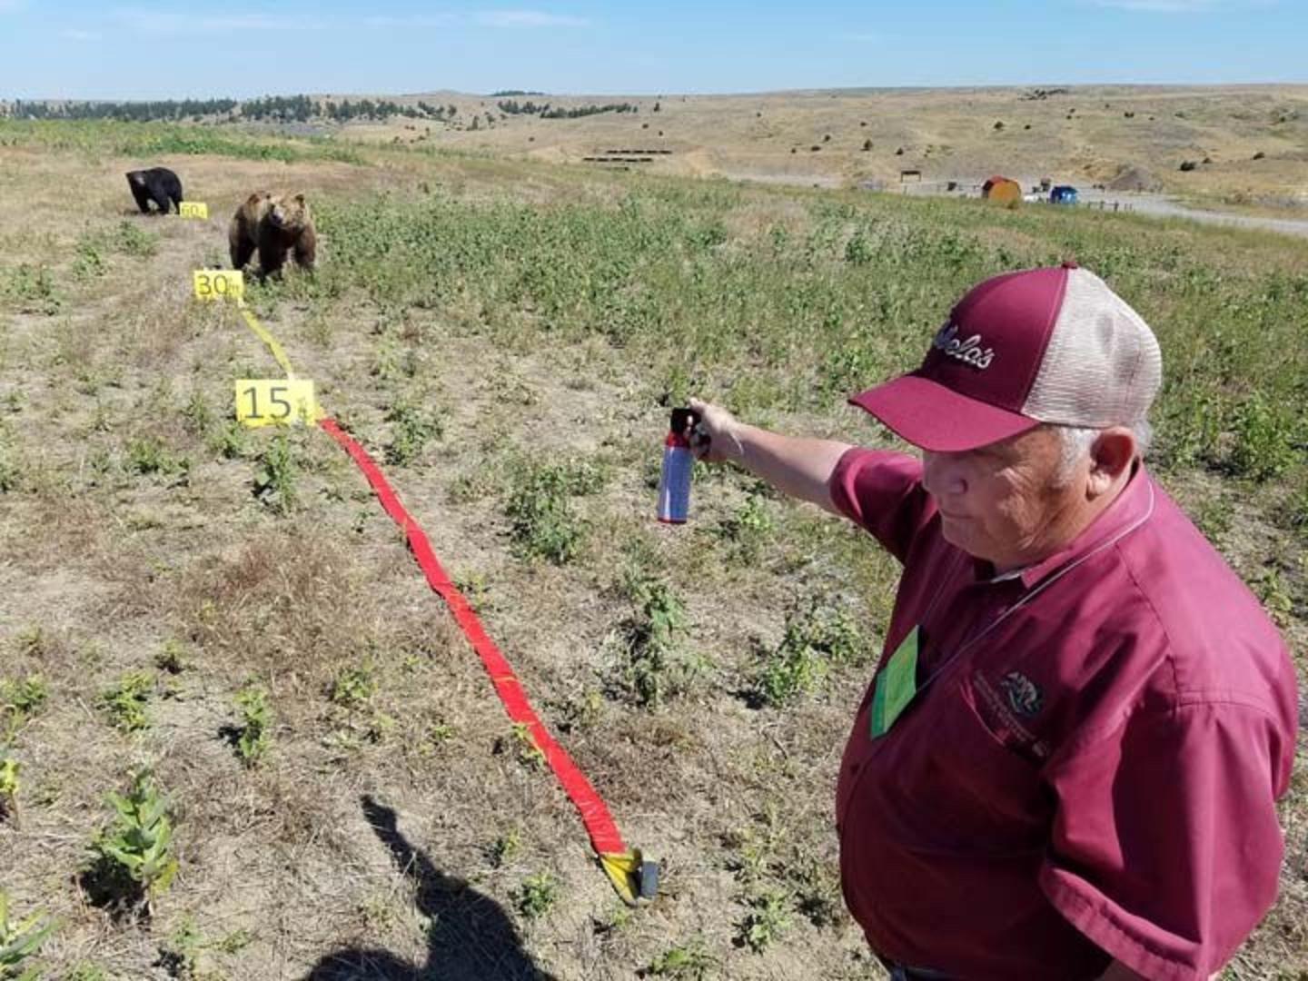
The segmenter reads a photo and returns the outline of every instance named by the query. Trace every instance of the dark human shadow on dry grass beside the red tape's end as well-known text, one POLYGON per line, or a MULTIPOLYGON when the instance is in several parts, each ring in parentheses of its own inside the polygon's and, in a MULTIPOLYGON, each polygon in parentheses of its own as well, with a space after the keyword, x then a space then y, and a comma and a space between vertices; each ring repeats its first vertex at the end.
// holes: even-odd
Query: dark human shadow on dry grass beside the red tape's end
POLYGON ((348 947, 332 951, 305 981, 555 981, 522 948, 509 914, 489 896, 446 875, 416 850, 396 827, 395 811, 370 795, 364 816, 415 886, 415 903, 432 923, 426 964, 390 951, 348 947))

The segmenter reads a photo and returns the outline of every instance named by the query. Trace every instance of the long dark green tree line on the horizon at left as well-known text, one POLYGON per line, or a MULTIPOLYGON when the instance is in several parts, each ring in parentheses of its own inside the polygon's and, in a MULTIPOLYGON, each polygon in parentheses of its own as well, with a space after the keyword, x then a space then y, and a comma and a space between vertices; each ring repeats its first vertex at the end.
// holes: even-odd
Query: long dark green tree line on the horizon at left
POLYGON ((166 99, 162 102, 27 102, 18 99, 0 103, 0 116, 13 119, 116 119, 122 122, 179 122, 183 119, 217 118, 220 122, 249 119, 273 123, 307 123, 313 119, 331 119, 345 123, 352 119, 409 119, 449 120, 458 115, 458 107, 402 106, 390 99, 358 99, 341 102, 314 99, 309 95, 266 95, 256 99, 166 99))

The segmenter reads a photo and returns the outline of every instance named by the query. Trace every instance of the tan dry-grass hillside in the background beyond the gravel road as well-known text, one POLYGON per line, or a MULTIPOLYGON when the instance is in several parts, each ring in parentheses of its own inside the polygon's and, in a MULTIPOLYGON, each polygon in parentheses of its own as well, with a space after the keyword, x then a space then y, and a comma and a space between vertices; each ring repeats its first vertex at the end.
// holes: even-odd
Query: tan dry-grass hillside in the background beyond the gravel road
POLYGON ((1053 94, 994 88, 511 97, 556 107, 629 102, 638 109, 582 119, 506 115, 497 107, 504 99, 436 93, 407 101, 458 106, 451 124, 360 123, 344 135, 556 162, 582 162, 610 149, 663 149, 671 153, 633 166, 824 187, 893 186, 909 169, 921 170, 925 182, 980 183, 998 173, 1024 186, 1049 177, 1082 187, 1143 171, 1151 187, 1203 207, 1308 208, 1308 86, 1045 92, 1053 94), (1197 167, 1182 173, 1185 161, 1197 167))

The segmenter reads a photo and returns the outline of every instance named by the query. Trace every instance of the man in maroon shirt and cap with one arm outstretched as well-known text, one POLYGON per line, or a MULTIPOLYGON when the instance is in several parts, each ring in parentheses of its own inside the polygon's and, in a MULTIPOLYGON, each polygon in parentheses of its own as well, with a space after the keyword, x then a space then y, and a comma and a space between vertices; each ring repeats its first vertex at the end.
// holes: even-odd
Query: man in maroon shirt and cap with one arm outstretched
POLYGON ((1201 980, 1275 899, 1296 685, 1150 477, 1158 341, 1067 263, 986 280, 853 399, 922 450, 692 436, 904 565, 836 791, 841 883, 904 978, 1201 980))

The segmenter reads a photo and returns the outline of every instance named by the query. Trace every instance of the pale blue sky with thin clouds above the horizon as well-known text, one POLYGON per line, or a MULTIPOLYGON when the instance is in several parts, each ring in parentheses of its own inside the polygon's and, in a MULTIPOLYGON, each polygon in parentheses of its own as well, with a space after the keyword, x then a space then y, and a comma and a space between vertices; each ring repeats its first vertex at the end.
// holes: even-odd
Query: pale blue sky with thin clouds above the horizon
POLYGON ((0 0, 0 98, 1303 82, 1305 51, 1305 0, 0 0))

